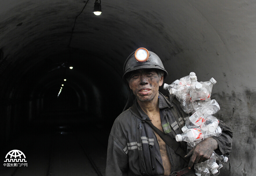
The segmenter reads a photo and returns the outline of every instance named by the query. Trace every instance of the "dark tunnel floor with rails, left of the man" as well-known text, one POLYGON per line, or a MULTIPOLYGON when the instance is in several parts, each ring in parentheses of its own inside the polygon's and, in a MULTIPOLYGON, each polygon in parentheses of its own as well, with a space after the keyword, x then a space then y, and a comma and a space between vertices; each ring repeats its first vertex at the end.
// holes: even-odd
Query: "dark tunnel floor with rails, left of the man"
POLYGON ((80 121, 72 124, 34 122, 24 131, 12 141, 11 147, 1 152, 0 175, 105 175, 109 130, 80 121), (8 150, 23 152, 27 166, 3 166, 8 150))

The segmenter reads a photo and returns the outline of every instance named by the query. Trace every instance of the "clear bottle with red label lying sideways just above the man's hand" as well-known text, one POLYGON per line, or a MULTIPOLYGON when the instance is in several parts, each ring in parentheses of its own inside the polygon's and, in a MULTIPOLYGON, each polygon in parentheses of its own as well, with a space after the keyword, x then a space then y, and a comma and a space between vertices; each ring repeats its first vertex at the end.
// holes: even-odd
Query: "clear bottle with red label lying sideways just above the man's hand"
POLYGON ((176 141, 185 141, 185 142, 193 142, 193 141, 201 141, 205 138, 212 137, 212 136, 219 136, 221 135, 221 128, 217 127, 214 132, 205 132, 200 128, 192 128, 188 129, 182 134, 177 134, 175 136, 176 141))

